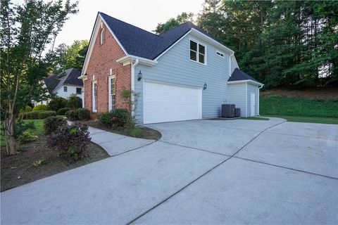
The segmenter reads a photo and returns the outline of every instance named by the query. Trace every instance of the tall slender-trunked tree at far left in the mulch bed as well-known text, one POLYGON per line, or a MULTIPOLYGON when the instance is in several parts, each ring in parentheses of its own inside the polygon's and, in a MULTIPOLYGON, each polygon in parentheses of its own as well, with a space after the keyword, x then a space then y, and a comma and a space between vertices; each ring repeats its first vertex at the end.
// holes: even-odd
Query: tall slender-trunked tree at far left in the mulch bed
MULTIPOLYGON (((13 5, 1 0, 1 114, 8 155, 16 153, 15 117, 32 99, 46 95, 39 82, 51 63, 44 57, 77 2, 26 0, 13 5)), ((48 54, 47 54, 48 55, 48 54)))

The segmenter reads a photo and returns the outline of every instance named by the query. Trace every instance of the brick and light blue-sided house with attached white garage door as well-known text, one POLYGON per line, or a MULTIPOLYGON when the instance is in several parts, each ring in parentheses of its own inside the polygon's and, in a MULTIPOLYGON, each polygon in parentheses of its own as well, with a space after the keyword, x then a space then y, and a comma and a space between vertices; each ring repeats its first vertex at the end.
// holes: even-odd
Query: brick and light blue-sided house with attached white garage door
POLYGON ((139 93, 141 124, 219 117, 223 103, 256 116, 263 86, 239 70, 234 51, 193 23, 156 35, 100 12, 79 78, 93 114, 126 108, 123 89, 139 93))

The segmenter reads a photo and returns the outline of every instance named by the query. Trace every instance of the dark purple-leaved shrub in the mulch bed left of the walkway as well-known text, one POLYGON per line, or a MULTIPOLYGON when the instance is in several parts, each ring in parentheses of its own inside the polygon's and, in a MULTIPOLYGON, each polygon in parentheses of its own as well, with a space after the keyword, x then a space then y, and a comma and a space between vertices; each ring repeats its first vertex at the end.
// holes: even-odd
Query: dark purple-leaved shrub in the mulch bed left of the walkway
POLYGON ((58 128, 47 138, 47 146, 61 150, 68 161, 79 160, 90 142, 87 124, 74 122, 58 128))

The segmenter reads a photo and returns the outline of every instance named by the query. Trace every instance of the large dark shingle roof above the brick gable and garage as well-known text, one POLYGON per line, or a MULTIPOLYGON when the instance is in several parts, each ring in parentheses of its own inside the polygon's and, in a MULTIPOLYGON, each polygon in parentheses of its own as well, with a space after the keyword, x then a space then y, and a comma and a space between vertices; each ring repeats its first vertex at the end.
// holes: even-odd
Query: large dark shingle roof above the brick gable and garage
POLYGON ((217 41, 211 34, 204 32, 204 30, 191 22, 183 23, 172 30, 157 35, 115 19, 105 13, 99 12, 99 14, 104 18, 108 27, 125 48, 125 51, 132 56, 154 60, 192 28, 217 41))

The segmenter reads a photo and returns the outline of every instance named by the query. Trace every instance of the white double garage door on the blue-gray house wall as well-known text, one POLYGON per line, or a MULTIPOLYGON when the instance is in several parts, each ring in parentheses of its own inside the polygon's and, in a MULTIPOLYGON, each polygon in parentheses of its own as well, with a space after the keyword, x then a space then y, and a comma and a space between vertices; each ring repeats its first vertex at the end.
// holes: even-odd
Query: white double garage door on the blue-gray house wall
POLYGON ((144 124, 201 119, 201 89, 144 82, 143 90, 144 124))

